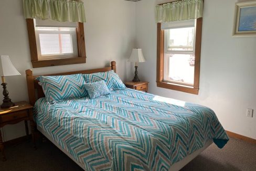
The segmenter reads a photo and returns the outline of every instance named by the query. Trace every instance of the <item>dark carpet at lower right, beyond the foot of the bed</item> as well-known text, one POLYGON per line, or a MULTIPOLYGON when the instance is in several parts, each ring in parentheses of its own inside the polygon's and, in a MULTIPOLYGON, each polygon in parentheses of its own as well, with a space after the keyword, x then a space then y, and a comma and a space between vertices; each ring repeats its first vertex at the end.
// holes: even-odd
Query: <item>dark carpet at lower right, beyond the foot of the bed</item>
POLYGON ((234 138, 222 149, 212 144, 182 169, 186 170, 256 171, 256 144, 234 138))

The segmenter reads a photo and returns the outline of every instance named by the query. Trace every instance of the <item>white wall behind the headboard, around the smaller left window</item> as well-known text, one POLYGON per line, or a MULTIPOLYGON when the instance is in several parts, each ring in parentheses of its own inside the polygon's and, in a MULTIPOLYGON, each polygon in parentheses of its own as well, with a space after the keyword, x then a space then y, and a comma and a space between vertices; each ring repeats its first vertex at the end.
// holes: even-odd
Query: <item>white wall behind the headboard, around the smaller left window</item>
MULTIPOLYGON (((87 23, 87 63, 33 69, 35 74, 74 71, 109 66, 117 62, 121 79, 130 78, 126 59, 135 45, 135 3, 120 0, 84 0, 87 23)), ((0 2, 0 55, 9 55, 22 76, 6 77, 12 101, 28 100, 25 70, 31 69, 27 26, 23 17, 22 1, 0 2)), ((2 91, 2 90, 1 90, 2 91)), ((0 93, 0 99, 3 99, 0 93)), ((4 127, 5 141, 25 135, 24 123, 4 127)))

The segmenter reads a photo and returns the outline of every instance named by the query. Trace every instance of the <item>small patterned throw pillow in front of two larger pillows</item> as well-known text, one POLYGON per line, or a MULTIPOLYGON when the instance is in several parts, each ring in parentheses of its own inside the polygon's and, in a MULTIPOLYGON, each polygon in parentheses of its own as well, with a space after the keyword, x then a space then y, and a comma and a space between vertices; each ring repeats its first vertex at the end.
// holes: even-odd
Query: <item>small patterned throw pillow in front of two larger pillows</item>
POLYGON ((90 99, 95 99, 101 97, 102 95, 110 94, 110 91, 108 87, 106 87, 104 80, 84 84, 84 87, 86 88, 90 99))

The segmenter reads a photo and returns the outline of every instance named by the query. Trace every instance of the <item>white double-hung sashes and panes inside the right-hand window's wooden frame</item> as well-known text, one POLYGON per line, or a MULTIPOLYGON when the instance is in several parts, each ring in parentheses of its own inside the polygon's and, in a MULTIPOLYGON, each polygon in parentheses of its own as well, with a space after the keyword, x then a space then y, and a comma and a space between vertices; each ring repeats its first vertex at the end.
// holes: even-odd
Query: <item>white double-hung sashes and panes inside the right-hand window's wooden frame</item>
POLYGON ((163 24, 164 81, 193 86, 195 19, 163 24))

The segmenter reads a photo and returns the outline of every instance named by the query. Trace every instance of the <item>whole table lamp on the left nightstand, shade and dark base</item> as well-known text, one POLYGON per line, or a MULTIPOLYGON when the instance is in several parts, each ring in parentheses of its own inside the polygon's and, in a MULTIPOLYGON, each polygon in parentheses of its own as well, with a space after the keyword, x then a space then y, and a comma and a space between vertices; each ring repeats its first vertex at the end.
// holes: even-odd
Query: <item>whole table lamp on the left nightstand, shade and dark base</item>
POLYGON ((17 71, 17 69, 13 66, 13 63, 10 61, 9 56, 1 55, 1 70, 0 74, 2 76, 2 86, 4 88, 3 94, 4 94, 4 100, 3 104, 1 105, 1 108, 10 108, 14 105, 14 103, 10 100, 8 97, 9 93, 6 89, 7 83, 5 82, 6 76, 17 76, 20 75, 20 73, 17 71))

